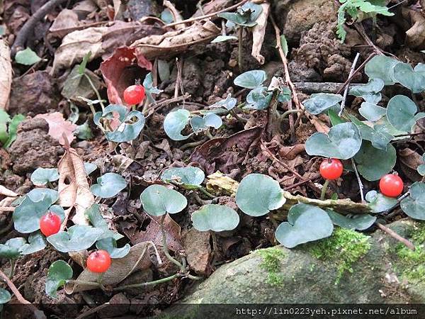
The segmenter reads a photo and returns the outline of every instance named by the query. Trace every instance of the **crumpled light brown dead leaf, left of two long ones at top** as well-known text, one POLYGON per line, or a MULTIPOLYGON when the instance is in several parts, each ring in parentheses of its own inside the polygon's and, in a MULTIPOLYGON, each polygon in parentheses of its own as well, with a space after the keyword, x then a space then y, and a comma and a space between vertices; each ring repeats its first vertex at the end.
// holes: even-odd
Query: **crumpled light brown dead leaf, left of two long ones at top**
POLYGON ((52 73, 81 62, 87 52, 90 61, 111 55, 116 47, 130 45, 149 34, 159 34, 159 28, 137 22, 115 21, 111 26, 91 27, 67 34, 55 52, 52 73))

